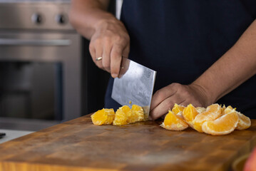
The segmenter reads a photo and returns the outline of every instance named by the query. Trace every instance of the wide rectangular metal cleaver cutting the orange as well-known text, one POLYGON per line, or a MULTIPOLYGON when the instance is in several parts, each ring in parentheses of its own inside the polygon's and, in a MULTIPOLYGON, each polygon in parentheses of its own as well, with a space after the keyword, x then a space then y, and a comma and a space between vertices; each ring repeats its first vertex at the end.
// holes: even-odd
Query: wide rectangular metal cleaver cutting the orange
POLYGON ((156 71, 122 58, 118 78, 114 79, 111 98, 121 105, 140 105, 148 117, 156 71))

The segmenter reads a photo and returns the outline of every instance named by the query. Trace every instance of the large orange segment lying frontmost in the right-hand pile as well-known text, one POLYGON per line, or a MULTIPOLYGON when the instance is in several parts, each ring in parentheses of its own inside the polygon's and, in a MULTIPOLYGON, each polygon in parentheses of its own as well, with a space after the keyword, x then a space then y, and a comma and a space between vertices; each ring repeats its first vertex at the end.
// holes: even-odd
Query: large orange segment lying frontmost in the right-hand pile
POLYGON ((238 115, 235 110, 232 110, 226 115, 222 115, 213 121, 206 121, 202 125, 202 130, 204 133, 211 135, 226 135, 235 130, 238 123, 238 115))

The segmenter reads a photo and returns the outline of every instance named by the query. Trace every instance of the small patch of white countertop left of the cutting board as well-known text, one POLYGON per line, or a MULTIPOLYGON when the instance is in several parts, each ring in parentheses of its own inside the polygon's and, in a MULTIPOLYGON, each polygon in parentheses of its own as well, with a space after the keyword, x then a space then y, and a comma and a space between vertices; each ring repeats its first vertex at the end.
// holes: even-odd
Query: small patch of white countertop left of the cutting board
POLYGON ((13 140, 15 138, 19 138, 21 136, 34 133, 33 131, 26 131, 26 130, 1 130, 0 133, 6 133, 3 138, 0 138, 0 144, 9 140, 13 140))

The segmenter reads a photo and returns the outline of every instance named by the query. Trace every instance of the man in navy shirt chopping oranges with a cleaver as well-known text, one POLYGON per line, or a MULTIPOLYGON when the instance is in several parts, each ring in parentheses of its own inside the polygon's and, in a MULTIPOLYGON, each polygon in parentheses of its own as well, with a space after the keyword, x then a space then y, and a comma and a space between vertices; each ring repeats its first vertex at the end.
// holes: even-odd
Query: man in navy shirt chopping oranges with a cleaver
MULTIPOLYGON (((70 19, 91 40, 96 66, 118 76, 121 56, 157 71, 151 118, 174 103, 232 105, 256 115, 256 1, 124 0, 121 21, 108 0, 73 0, 70 19)), ((111 78, 106 108, 111 99, 111 78)))

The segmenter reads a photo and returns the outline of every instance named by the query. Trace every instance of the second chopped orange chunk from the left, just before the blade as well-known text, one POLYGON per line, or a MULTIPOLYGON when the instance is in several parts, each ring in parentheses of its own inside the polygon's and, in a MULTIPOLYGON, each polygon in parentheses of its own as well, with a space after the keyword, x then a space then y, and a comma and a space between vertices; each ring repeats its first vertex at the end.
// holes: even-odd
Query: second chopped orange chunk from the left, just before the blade
POLYGON ((116 110, 116 116, 113 120, 113 125, 127 125, 128 119, 131 117, 132 113, 128 105, 123 105, 121 108, 116 110))

